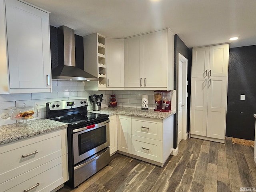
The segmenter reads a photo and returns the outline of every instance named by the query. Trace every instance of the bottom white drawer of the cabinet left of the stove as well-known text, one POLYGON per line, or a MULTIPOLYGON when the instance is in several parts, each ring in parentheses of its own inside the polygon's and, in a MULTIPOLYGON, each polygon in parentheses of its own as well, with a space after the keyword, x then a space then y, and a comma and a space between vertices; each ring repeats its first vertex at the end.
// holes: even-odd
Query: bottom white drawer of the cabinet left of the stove
POLYGON ((49 192, 63 184, 61 157, 0 184, 0 192, 49 192))

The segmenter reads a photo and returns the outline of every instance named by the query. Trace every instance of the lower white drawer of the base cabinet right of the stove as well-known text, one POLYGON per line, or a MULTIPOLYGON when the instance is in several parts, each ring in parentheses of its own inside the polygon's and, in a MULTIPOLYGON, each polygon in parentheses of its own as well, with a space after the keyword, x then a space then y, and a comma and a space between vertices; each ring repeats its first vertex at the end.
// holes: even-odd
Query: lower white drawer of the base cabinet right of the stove
POLYGON ((132 135, 132 154, 162 163, 162 141, 132 135))

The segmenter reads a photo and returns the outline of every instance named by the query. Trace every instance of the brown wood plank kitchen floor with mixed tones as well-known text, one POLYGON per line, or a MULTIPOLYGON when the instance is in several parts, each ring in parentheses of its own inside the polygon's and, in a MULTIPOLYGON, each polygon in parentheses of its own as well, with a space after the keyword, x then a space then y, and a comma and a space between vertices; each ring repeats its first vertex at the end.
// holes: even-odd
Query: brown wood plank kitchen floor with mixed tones
POLYGON ((110 164, 78 188, 58 192, 240 192, 256 187, 254 148, 188 138, 163 168, 114 154, 110 164))

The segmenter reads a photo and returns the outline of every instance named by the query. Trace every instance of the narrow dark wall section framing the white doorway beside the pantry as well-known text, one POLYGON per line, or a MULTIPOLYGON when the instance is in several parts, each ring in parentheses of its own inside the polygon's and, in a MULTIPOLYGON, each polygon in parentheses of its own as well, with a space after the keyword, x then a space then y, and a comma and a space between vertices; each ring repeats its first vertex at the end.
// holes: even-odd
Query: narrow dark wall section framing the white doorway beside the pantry
MULTIPOLYGON (((180 37, 176 34, 174 36, 174 89, 178 87, 176 77, 177 77, 177 64, 179 63, 178 54, 182 54, 184 57, 188 59, 188 100, 187 100, 187 131, 189 131, 190 124, 190 92, 191 92, 191 61, 192 61, 192 52, 191 50, 184 44, 184 42, 180 39, 180 37)), ((176 98, 178 98, 178 92, 176 91, 176 98)), ((178 101, 178 100, 176 100, 178 101)), ((176 103, 177 106, 177 103, 176 103)), ((177 118, 177 116, 176 116, 177 118)), ((178 146, 178 126, 177 119, 176 126, 174 128, 174 148, 178 146)))

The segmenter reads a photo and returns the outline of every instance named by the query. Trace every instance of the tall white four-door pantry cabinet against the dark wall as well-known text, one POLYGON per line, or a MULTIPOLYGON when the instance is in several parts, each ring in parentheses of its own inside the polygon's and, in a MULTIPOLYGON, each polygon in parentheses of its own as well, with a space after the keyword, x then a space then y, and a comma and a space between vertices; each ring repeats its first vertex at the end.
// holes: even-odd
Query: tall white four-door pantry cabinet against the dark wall
POLYGON ((190 136, 224 143, 229 44, 193 48, 190 136))

